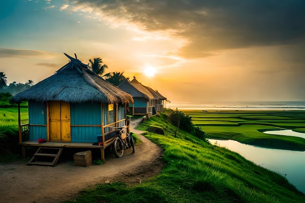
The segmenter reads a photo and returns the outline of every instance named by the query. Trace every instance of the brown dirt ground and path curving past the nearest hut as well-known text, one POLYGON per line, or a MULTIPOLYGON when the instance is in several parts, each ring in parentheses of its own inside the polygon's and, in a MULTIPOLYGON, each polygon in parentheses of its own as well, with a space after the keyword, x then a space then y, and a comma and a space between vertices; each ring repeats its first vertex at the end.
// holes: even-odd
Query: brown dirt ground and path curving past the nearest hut
POLYGON ((114 181, 141 184, 161 172, 161 148, 134 129, 143 143, 124 151, 121 158, 105 157, 103 165, 74 166, 73 161, 59 161, 56 166, 26 166, 28 160, 0 165, 0 203, 60 203, 77 197, 83 188, 114 181))

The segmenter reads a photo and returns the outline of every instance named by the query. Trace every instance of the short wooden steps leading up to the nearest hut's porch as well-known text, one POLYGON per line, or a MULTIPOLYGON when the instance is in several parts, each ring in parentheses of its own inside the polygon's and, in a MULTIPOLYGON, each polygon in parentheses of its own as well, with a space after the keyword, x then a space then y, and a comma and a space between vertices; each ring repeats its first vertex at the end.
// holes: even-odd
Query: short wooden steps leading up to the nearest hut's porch
POLYGON ((40 147, 27 165, 54 166, 63 148, 40 147))

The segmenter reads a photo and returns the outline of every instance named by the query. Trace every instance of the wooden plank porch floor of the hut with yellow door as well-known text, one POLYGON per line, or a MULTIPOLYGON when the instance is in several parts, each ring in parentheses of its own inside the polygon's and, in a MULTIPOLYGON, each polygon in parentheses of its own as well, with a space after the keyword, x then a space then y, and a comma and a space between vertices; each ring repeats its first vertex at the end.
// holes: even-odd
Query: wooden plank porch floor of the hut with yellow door
POLYGON ((46 142, 38 143, 38 141, 25 141, 18 143, 20 146, 30 147, 57 147, 57 148, 103 148, 103 146, 92 145, 92 143, 87 142, 46 142))

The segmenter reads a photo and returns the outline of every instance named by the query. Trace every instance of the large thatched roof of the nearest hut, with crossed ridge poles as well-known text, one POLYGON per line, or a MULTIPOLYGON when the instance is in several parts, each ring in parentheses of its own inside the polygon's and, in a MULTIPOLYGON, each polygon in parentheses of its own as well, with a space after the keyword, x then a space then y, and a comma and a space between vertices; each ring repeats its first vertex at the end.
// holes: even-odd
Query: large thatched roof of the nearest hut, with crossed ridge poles
MULTIPOLYGON (((66 54, 65 54, 66 55, 66 54)), ((132 103, 133 97, 105 81, 76 58, 66 55, 71 61, 52 76, 10 99, 10 103, 21 101, 65 101, 82 103, 132 103)))

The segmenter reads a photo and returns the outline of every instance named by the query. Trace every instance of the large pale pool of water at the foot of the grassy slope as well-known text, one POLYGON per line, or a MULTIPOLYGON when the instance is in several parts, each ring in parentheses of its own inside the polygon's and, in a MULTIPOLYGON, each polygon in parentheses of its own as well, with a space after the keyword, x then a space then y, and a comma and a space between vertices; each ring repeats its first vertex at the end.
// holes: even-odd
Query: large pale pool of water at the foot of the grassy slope
POLYGON ((258 148, 234 140, 213 140, 211 144, 228 148, 256 163, 259 166, 275 171, 287 178, 300 191, 305 193, 305 152, 281 149, 258 148))

